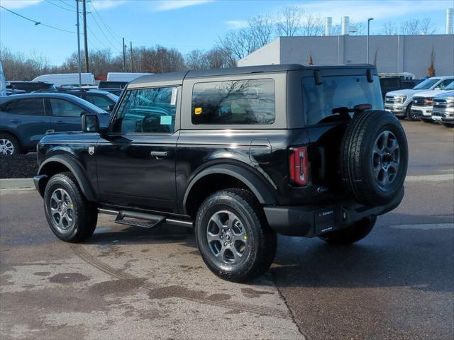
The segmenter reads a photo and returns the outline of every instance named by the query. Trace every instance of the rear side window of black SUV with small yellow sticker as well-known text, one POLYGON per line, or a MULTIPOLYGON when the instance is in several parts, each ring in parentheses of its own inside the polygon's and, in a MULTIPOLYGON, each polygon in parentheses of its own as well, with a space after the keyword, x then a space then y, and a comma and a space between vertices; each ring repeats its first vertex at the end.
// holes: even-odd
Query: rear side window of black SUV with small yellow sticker
POLYGON ((194 84, 193 124, 272 124, 275 117, 272 79, 194 84))

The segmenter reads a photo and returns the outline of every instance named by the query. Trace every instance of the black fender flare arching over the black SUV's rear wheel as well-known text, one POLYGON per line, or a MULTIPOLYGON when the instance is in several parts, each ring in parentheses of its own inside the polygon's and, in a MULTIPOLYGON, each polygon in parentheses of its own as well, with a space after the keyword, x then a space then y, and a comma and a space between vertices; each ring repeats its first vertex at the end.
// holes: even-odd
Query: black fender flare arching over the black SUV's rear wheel
POLYGON ((253 171, 245 169, 242 166, 234 164, 221 165, 217 164, 200 171, 199 174, 196 174, 196 176, 194 176, 194 178, 189 183, 184 193, 183 198, 184 210, 186 210, 187 207, 187 199, 189 198, 189 194, 191 193, 192 188, 194 188, 196 183, 203 179, 205 176, 213 174, 225 174, 228 176, 232 176, 235 179, 238 179, 250 189, 250 191, 255 195, 258 201, 263 205, 277 204, 275 195, 272 193, 271 189, 265 184, 266 179, 260 179, 258 174, 255 174, 253 171))

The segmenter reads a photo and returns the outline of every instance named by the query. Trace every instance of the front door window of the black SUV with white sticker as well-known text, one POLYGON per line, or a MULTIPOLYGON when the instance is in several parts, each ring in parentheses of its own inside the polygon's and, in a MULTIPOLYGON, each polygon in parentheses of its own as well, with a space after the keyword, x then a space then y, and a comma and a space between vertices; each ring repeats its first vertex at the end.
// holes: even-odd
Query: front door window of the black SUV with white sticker
POLYGON ((118 109, 114 132, 173 132, 176 103, 176 87, 129 90, 118 109))

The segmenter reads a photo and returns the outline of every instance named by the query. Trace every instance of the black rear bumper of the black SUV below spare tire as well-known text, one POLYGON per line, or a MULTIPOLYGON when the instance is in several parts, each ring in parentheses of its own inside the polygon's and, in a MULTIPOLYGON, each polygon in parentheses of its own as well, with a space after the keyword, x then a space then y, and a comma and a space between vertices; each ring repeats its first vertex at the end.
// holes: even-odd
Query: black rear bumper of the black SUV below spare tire
POLYGON ((368 207, 348 201, 337 205, 267 206, 268 224, 275 232, 287 236, 315 237, 324 232, 343 229, 371 215, 383 215, 397 208, 404 198, 404 188, 387 205, 368 207))

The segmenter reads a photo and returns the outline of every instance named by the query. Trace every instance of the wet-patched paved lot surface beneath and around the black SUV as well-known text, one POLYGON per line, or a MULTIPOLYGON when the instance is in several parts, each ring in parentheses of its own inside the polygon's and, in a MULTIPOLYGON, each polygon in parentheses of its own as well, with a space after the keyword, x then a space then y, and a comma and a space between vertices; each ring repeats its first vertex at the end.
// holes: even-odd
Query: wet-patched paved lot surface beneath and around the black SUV
POLYGON ((0 193, 0 338, 452 339, 454 131, 404 123, 402 205, 354 246, 279 237, 250 285, 213 276, 184 229, 102 216, 59 242, 35 192, 0 193))

